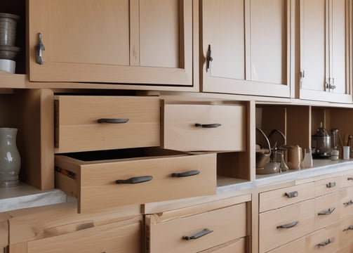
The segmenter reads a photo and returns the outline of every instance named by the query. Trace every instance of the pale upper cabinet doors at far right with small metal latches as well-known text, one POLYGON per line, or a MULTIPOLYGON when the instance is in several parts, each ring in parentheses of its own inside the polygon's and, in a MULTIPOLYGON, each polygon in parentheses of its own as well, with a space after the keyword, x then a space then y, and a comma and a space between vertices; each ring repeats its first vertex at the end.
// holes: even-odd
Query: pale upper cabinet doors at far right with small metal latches
POLYGON ((350 0, 300 1, 300 98, 352 103, 350 0))

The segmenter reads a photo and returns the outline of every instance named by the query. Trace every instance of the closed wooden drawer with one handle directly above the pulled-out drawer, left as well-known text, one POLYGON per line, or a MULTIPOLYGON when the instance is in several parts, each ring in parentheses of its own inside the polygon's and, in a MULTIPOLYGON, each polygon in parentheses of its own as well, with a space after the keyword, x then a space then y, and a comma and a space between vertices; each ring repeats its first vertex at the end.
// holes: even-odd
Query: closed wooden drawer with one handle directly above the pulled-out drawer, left
POLYGON ((159 108, 156 97, 56 96, 55 153, 159 146, 159 108))

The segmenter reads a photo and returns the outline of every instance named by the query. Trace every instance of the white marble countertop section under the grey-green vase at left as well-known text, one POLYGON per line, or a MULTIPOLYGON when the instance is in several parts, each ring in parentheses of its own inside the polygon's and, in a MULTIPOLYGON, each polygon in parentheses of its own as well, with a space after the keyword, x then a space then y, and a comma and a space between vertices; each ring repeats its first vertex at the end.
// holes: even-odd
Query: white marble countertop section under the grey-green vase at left
POLYGON ((0 188, 0 212, 22 209, 27 207, 40 207, 58 204, 67 201, 62 190, 39 190, 25 183, 18 186, 0 188))

